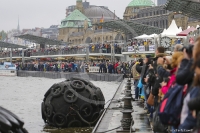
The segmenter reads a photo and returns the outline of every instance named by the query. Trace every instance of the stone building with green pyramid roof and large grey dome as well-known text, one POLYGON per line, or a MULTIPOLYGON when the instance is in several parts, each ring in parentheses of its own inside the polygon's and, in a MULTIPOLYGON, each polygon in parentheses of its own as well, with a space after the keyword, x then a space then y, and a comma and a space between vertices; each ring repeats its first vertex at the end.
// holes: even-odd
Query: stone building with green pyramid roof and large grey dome
POLYGON ((118 37, 123 38, 123 35, 119 35, 118 32, 92 25, 92 23, 99 23, 100 21, 105 22, 117 19, 119 18, 115 13, 104 6, 84 8, 82 0, 76 0, 76 9, 61 21, 58 40, 69 42, 72 45, 79 45, 104 43, 118 37))

